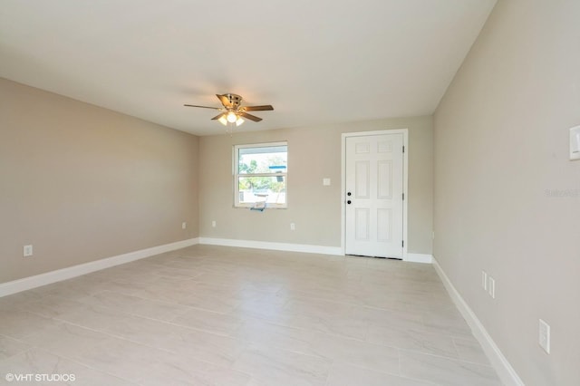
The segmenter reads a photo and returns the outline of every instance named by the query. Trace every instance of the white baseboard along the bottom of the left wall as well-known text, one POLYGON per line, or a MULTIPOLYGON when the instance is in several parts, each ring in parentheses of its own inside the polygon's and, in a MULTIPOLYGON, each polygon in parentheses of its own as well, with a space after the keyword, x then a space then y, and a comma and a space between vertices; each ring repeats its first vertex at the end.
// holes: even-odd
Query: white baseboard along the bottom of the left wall
POLYGON ((190 238, 188 240, 178 241, 163 246, 152 246, 150 248, 141 249, 139 251, 134 251, 119 256, 111 256, 89 263, 73 265, 63 269, 57 269, 56 271, 46 272, 44 274, 24 277, 23 279, 2 283, 0 284, 0 297, 26 291, 42 285, 50 285, 52 283, 71 279, 76 276, 90 274, 95 271, 110 268, 111 266, 131 263, 131 261, 174 251, 176 249, 185 248, 186 246, 194 246, 198 244, 198 242, 198 238, 190 238))

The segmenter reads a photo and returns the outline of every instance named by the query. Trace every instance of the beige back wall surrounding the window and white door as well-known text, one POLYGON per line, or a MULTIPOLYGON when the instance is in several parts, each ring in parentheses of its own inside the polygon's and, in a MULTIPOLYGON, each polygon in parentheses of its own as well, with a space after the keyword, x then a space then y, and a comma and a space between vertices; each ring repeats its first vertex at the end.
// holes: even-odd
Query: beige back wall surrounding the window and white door
MULTIPOLYGON (((247 123, 252 124, 252 122, 247 123)), ((341 134, 409 129, 409 251, 431 254, 432 120, 364 121, 285 130, 243 131, 199 139, 200 236, 341 246, 341 134), (288 141, 288 208, 233 207, 232 147, 288 141), (323 178, 332 185, 323 186, 323 178), (218 227, 211 227, 215 220, 218 227), (295 231, 290 231, 290 223, 295 231)), ((216 128, 219 130, 219 127, 216 128)))

